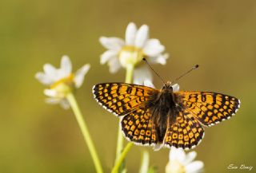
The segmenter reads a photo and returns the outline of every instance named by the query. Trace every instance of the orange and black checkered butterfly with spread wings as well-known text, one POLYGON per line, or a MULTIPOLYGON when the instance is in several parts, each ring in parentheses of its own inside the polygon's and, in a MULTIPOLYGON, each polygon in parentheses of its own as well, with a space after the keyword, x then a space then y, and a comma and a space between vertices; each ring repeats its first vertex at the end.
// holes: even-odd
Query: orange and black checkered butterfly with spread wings
POLYGON ((240 100, 216 92, 175 92, 170 81, 161 89, 126 83, 94 85, 98 104, 121 118, 126 139, 138 145, 161 147, 197 146, 203 126, 230 119, 240 100))

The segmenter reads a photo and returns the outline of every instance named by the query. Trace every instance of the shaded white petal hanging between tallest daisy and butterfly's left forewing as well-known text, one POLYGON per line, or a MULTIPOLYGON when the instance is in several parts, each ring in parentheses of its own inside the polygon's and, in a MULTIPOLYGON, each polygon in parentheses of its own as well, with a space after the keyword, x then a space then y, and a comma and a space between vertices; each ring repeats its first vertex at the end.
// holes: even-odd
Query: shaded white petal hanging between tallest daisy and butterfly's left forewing
POLYGON ((134 84, 143 85, 144 81, 152 81, 152 75, 147 65, 134 69, 134 84))

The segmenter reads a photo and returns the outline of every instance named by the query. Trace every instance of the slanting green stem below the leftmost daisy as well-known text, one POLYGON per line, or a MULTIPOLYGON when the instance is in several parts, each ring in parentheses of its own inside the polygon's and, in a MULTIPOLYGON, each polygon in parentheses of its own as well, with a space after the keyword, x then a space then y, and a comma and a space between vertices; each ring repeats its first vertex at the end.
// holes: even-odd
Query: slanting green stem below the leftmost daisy
POLYGON ((78 120, 78 124, 79 124, 80 130, 82 132, 82 136, 83 136, 84 140, 86 141, 87 146, 89 147, 90 155, 93 158, 96 171, 98 173, 102 173, 103 172, 102 165, 98 159, 98 155, 95 150, 94 143, 90 138, 90 133, 86 126, 86 122, 82 117, 82 113, 78 107, 78 103, 75 100, 73 93, 72 92, 68 93, 66 96, 66 99, 69 101, 70 106, 73 109, 74 115, 75 115, 76 119, 78 120))

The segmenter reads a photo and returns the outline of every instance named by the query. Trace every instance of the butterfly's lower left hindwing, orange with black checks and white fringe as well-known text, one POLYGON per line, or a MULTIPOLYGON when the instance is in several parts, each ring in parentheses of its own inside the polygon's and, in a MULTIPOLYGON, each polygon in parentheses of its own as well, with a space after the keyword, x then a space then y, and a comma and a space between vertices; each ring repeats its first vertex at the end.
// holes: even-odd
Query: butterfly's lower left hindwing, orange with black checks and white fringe
POLYGON ((158 143, 149 108, 138 108, 121 120, 122 132, 127 140, 138 145, 154 146, 158 143))

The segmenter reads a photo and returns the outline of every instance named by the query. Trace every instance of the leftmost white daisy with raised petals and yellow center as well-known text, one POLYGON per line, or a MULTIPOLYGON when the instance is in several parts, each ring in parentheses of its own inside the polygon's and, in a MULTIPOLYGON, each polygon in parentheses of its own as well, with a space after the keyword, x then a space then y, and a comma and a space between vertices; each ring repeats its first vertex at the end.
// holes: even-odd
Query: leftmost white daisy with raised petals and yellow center
POLYGON ((43 85, 50 88, 44 90, 46 102, 49 104, 61 104, 62 108, 70 108, 70 104, 66 100, 66 94, 71 92, 73 88, 79 88, 82 85, 84 77, 90 65, 83 65, 76 73, 72 73, 72 64, 68 56, 63 56, 60 69, 56 69, 53 65, 43 65, 44 72, 35 74, 35 77, 43 85))

